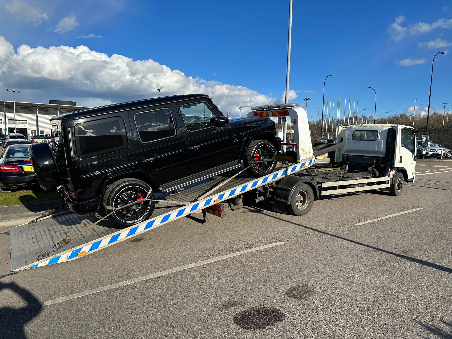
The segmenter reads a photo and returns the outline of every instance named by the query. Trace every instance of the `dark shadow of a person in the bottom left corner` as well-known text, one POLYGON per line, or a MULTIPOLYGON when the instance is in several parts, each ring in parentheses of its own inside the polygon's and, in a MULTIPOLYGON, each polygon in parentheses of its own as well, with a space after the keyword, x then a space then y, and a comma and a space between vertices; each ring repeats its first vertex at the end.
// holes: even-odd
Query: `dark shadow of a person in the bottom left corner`
POLYGON ((42 309, 42 304, 32 293, 20 287, 15 282, 0 282, 0 292, 9 288, 17 293, 27 306, 22 308, 3 307, 0 309, 0 338, 27 338, 24 333, 24 326, 32 320, 42 309))

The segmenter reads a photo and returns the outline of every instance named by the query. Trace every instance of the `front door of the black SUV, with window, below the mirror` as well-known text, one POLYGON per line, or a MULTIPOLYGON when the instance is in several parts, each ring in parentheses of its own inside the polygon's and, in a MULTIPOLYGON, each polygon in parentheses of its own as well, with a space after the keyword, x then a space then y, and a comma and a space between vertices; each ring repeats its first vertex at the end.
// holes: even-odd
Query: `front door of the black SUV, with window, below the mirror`
POLYGON ((230 125, 215 127, 211 121, 221 113, 206 101, 179 103, 177 108, 189 150, 191 174, 233 161, 230 125))

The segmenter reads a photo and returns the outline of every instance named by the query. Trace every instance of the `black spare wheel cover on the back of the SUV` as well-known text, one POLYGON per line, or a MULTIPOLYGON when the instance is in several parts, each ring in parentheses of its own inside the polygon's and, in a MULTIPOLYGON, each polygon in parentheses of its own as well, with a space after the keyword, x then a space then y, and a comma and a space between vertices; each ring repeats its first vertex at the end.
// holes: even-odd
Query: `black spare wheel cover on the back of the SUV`
POLYGON ((33 170, 38 178, 39 186, 46 191, 61 185, 61 177, 55 158, 47 142, 30 145, 28 154, 33 163, 33 170))

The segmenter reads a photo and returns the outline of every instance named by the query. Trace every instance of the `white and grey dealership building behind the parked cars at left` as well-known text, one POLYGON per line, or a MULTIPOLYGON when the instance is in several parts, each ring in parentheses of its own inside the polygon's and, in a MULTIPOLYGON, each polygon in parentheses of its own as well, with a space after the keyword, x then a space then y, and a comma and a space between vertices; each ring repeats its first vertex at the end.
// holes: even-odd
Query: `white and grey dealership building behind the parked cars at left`
POLYGON ((50 134, 51 122, 55 115, 78 111, 88 108, 77 106, 74 101, 49 100, 48 104, 15 102, 15 123, 14 123, 14 103, 12 101, 0 101, 0 133, 24 134, 30 138, 34 135, 50 134))

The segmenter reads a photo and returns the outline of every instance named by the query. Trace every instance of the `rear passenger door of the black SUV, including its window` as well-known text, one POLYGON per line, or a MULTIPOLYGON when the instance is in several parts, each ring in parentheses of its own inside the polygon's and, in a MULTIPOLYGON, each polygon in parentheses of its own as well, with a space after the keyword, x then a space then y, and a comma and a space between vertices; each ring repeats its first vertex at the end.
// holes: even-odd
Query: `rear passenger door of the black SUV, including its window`
POLYGON ((174 110, 165 104, 129 113, 140 164, 160 185, 188 176, 188 151, 174 110))

